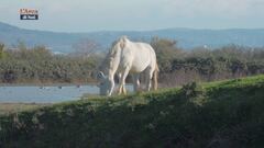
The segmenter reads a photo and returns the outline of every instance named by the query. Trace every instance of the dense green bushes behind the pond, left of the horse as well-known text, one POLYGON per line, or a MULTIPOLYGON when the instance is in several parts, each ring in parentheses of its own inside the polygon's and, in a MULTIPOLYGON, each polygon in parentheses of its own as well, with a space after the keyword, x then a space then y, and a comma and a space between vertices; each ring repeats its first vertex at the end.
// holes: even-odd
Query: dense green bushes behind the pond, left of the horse
POLYGON ((98 58, 53 55, 44 46, 4 50, 7 58, 0 59, 1 82, 90 82, 98 58))

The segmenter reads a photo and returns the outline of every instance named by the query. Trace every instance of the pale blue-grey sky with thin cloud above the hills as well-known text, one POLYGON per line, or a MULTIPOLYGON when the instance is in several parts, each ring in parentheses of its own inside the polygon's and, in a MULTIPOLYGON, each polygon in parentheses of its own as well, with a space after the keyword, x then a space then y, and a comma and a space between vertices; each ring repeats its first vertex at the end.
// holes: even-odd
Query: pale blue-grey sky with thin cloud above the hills
POLYGON ((0 0, 0 22, 54 32, 264 29, 264 0, 0 0), (40 20, 21 21, 23 8, 40 20))

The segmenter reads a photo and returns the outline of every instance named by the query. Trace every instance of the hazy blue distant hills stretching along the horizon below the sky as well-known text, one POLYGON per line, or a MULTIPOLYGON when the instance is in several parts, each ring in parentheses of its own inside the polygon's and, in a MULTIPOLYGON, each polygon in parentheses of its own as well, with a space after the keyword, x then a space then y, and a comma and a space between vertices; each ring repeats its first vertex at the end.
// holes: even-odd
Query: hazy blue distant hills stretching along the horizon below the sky
POLYGON ((150 42, 152 37, 166 37, 176 39, 178 46, 190 49, 207 45, 220 47, 237 44, 251 47, 264 46, 264 29, 230 29, 230 30, 193 30, 166 29, 156 31, 101 31, 90 33, 58 33, 48 31, 24 30, 0 22, 0 42, 15 45, 19 41, 28 46, 46 45, 53 52, 70 53, 73 45, 81 39, 92 39, 107 49, 119 36, 127 35, 133 41, 150 42))

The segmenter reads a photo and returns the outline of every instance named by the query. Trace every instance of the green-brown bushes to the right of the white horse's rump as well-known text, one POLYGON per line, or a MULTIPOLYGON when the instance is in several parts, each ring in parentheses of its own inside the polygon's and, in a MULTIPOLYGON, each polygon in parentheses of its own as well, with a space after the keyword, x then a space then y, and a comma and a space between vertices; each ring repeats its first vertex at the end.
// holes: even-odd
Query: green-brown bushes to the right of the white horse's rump
POLYGON ((183 50, 175 41, 157 37, 151 45, 157 54, 160 82, 167 87, 264 73, 264 48, 228 45, 183 50))

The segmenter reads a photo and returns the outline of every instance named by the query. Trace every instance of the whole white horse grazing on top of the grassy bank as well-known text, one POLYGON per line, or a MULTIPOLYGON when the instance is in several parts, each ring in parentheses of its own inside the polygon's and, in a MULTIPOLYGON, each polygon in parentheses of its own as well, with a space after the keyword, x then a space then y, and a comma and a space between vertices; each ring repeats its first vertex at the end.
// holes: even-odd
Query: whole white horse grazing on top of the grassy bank
POLYGON ((114 88, 114 73, 119 73, 119 94, 127 93, 125 78, 130 73, 133 76, 134 91, 140 87, 140 73, 146 72, 146 90, 150 91, 154 77, 154 90, 157 89, 157 72, 156 54, 150 44, 134 43, 122 36, 113 43, 109 54, 106 57, 107 75, 102 71, 98 73, 100 81, 100 94, 111 95, 114 88))

